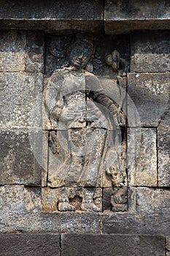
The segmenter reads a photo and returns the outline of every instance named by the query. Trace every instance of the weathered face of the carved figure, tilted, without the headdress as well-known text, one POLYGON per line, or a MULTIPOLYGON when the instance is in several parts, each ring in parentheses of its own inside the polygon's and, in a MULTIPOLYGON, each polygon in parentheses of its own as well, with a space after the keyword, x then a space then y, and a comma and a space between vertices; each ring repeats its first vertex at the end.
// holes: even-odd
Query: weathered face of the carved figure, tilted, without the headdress
POLYGON ((85 67, 93 54, 93 47, 85 42, 77 41, 70 53, 71 63, 79 69, 85 67))

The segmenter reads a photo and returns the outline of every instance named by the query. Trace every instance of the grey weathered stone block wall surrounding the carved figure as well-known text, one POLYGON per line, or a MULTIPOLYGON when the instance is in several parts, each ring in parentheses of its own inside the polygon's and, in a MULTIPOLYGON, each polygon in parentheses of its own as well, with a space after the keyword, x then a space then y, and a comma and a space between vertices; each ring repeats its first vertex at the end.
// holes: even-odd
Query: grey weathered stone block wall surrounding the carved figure
POLYGON ((152 1, 1 2, 0 255, 169 256, 169 4, 155 1, 152 12, 152 1), (63 57, 49 49, 80 31, 93 32, 93 75, 126 116, 125 177, 123 185, 105 174, 96 187, 81 185, 96 189, 98 211, 83 211, 83 189, 67 184, 76 211, 60 211, 64 184, 53 181, 59 167, 50 145, 57 128, 45 93, 63 57), (112 50, 125 61, 124 75, 106 64, 112 50))

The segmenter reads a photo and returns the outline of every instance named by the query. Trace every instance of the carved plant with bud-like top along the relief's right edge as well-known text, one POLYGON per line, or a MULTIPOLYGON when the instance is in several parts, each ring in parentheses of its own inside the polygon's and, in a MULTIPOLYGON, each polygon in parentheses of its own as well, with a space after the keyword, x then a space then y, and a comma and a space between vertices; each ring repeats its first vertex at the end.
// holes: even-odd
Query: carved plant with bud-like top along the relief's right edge
MULTIPOLYGON (((123 78, 126 76, 127 67, 125 60, 120 58, 120 53, 117 50, 113 50, 112 53, 107 53, 105 56, 107 64, 117 72, 117 80, 121 85, 123 78)), ((119 105, 117 110, 117 121, 120 127, 125 127, 125 114, 121 110, 122 105, 119 105)), ((117 158, 115 158, 115 165, 110 166, 107 169, 107 175, 112 177, 112 190, 110 198, 110 209, 111 211, 127 211, 128 200, 127 200, 127 184, 126 184, 126 173, 125 173, 125 145, 117 148, 117 158)))

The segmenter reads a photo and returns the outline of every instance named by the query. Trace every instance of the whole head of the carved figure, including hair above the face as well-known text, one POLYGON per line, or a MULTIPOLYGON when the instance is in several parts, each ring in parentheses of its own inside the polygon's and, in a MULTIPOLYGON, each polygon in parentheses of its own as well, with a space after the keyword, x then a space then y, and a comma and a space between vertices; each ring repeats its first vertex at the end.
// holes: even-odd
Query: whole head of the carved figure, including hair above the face
POLYGON ((77 37, 71 46, 70 61, 77 69, 85 68, 94 53, 90 37, 77 37))

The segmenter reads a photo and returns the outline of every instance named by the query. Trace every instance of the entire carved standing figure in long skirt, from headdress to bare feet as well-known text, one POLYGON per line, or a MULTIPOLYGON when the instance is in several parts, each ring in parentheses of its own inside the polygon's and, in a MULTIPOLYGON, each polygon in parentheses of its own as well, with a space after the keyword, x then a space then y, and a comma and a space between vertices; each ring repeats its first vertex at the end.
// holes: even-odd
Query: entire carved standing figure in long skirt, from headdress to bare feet
POLYGON ((47 113, 57 124, 50 140, 58 167, 48 182, 62 188, 59 211, 75 211, 69 201, 75 195, 82 197, 82 211, 100 211, 93 200, 95 188, 102 187, 103 172, 112 174, 115 145, 122 140, 118 106, 92 74, 93 37, 77 35, 67 52, 69 67, 53 72, 45 92, 47 113), (71 187, 76 188, 73 195, 71 187))

